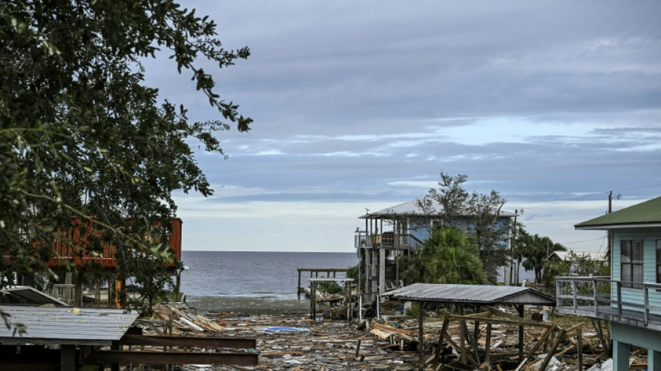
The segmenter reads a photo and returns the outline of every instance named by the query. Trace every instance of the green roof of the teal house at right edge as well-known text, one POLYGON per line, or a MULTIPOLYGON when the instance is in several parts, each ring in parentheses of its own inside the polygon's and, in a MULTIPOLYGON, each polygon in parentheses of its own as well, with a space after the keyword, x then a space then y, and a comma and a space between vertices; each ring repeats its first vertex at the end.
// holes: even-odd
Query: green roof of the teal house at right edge
POLYGON ((661 197, 578 223, 576 229, 610 229, 624 226, 661 226, 661 197))

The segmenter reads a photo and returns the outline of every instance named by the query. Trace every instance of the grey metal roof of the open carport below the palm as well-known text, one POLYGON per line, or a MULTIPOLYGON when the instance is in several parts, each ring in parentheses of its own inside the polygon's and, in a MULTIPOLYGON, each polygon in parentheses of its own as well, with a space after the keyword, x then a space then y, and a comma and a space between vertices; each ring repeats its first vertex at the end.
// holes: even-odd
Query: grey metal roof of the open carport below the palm
POLYGON ((555 298, 530 287, 493 285, 443 285, 414 283, 386 292, 394 299, 465 303, 477 305, 541 305, 555 306, 555 298))

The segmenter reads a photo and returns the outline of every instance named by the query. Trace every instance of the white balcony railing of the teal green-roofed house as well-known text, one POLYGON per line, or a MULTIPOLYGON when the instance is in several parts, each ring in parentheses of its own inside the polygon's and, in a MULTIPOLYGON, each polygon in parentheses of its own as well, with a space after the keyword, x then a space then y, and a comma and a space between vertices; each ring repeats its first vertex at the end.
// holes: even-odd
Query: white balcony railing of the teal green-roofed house
POLYGON ((639 313, 647 326, 651 320, 660 322, 660 291, 660 283, 618 281, 610 277, 557 277, 556 306, 561 313, 612 316, 617 321, 623 317, 632 317, 632 313, 639 313), (623 297, 623 289, 636 292, 623 297))

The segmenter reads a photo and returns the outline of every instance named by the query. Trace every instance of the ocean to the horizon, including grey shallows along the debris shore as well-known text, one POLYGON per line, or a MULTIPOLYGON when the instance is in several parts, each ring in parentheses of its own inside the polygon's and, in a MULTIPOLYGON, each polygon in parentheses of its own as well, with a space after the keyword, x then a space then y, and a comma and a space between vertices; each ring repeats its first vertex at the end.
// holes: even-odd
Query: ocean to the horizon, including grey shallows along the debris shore
MULTIPOLYGON (((309 302, 296 295, 297 268, 349 268, 356 253, 182 251, 181 290, 202 313, 306 313, 309 302)), ((338 274, 338 278, 343 274, 338 274)), ((301 286, 309 286, 309 272, 301 286)), ((521 279, 532 271, 521 269, 521 279)))

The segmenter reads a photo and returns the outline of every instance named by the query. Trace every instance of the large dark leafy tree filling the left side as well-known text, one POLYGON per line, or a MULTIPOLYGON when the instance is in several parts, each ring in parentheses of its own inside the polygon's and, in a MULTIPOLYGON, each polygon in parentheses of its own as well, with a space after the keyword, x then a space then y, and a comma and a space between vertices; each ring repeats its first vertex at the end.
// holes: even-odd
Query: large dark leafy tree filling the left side
POLYGON ((177 211, 173 191, 213 193, 191 145, 223 155, 216 132, 232 124, 246 132, 252 122, 219 97, 198 63, 225 68, 249 54, 247 47, 223 49, 216 24, 174 0, 0 3, 3 274, 54 277, 45 265, 54 241, 86 228, 72 225, 75 216, 100 231, 88 250, 117 246, 120 277, 162 290, 164 271, 140 267, 173 260, 161 243, 177 211), (184 106, 157 103, 141 60, 161 49, 191 75, 218 119, 193 123, 184 106))

